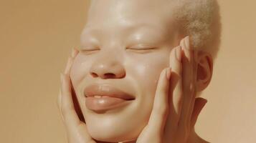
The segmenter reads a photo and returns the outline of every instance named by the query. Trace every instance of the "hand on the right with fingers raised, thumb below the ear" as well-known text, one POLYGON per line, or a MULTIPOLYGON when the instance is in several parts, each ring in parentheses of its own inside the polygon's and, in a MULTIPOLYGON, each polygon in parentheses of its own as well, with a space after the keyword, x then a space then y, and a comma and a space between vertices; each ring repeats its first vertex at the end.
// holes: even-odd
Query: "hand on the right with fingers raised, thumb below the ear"
POLYGON ((161 71, 148 124, 137 143, 186 143, 206 99, 196 98, 196 64, 189 36, 171 50, 161 71))

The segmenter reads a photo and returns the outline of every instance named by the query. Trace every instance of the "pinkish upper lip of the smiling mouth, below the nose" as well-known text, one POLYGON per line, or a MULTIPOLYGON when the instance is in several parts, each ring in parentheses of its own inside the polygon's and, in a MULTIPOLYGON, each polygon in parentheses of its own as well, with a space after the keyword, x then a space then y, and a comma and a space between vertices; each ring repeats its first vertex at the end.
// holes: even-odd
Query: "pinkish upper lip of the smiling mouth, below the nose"
POLYGON ((110 84, 93 84, 85 87, 84 90, 85 97, 93 97, 95 95, 115 97, 125 100, 135 99, 131 94, 123 92, 121 89, 117 89, 110 84))

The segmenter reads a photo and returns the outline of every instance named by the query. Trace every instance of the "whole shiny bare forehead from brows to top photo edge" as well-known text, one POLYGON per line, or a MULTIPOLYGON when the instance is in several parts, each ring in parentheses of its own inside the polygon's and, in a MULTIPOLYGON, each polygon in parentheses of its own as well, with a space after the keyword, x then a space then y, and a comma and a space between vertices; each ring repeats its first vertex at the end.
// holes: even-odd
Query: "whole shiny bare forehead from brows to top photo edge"
POLYGON ((92 1, 81 38, 108 35, 108 39, 115 39, 136 32, 156 38, 174 32, 166 1, 169 0, 92 1))

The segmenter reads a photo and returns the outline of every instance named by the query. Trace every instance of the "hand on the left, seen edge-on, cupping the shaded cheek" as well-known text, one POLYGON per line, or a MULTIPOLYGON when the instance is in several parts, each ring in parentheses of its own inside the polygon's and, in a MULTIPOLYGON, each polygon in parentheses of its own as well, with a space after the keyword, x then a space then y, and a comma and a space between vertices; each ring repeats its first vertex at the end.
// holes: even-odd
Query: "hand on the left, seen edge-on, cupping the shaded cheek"
POLYGON ((86 124, 79 119, 72 101, 70 69, 78 52, 79 51, 75 49, 72 50, 72 56, 70 56, 67 61, 65 72, 61 74, 61 87, 57 104, 60 109, 62 121, 65 124, 69 143, 100 143, 90 137, 87 132, 86 124))

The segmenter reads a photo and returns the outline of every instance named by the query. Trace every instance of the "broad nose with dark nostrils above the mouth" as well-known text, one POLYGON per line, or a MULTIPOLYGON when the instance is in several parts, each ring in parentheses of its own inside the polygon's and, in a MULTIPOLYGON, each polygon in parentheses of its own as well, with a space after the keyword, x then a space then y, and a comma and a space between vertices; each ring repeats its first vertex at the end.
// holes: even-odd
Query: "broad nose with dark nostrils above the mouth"
POLYGON ((90 68, 90 74, 102 79, 120 79, 125 77, 125 68, 116 55, 99 55, 90 68))

